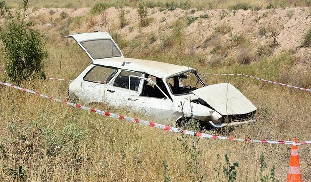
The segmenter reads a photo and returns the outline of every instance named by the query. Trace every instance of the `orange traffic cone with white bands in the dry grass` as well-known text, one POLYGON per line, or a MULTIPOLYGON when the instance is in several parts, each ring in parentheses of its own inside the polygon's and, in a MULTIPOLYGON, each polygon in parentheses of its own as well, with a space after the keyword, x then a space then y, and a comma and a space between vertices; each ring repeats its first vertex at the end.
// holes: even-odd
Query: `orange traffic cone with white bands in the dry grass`
MULTIPOLYGON (((297 143, 296 138, 293 140, 297 143)), ((286 182, 302 182, 300 173, 300 162, 298 155, 298 146, 292 146, 290 166, 288 167, 287 181, 286 182)))

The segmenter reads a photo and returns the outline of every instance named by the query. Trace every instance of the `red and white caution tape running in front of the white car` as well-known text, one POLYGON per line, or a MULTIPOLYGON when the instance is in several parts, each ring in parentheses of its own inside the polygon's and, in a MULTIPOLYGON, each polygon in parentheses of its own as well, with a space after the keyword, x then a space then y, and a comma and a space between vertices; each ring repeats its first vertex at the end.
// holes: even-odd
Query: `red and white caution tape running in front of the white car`
POLYGON ((159 128, 159 129, 167 130, 167 131, 171 131, 171 132, 178 132, 178 133, 182 132, 183 134, 187 134, 187 135, 191 135, 191 136, 198 136, 201 138, 213 138, 213 139, 222 139, 222 140, 234 140, 234 141, 241 141, 241 142, 256 142, 256 143, 269 143, 269 144, 288 144, 288 145, 303 145, 303 144, 311 143, 311 141, 302 142, 302 143, 295 143, 293 141, 238 139, 238 138, 232 138, 232 137, 216 136, 216 135, 211 135, 211 134, 206 134, 206 133, 201 133, 201 132, 193 132, 193 131, 189 131, 189 130, 181 130, 179 128, 175 128, 175 127, 168 126, 168 125, 158 124, 158 123, 149 122, 149 121, 145 121, 145 120, 141 120, 141 119, 137 119, 137 118, 132 118, 132 117, 127 117, 127 116, 123 116, 123 115, 119 115, 119 114, 115 114, 115 113, 110 113, 108 111, 102 111, 102 110, 98 110, 98 109, 94 109, 94 108, 89 108, 86 106, 82 106, 80 104, 68 102, 66 100, 53 98, 51 96, 47 96, 47 95, 29 90, 26 88, 21 88, 21 87, 18 87, 16 85, 9 84, 9 83, 0 82, 0 85, 5 85, 5 86, 9 86, 11 88, 16 88, 16 89, 24 91, 24 92, 35 94, 37 96, 41 96, 41 97, 44 97, 47 99, 55 100, 55 101, 70 105, 72 107, 84 109, 84 110, 91 111, 93 113, 97 113, 100 115, 104 115, 104 116, 108 116, 108 117, 112 117, 112 118, 116 118, 116 119, 120 119, 120 120, 124 120, 124 121, 128 121, 128 122, 132 122, 132 123, 142 124, 142 125, 150 126, 153 128, 159 128))

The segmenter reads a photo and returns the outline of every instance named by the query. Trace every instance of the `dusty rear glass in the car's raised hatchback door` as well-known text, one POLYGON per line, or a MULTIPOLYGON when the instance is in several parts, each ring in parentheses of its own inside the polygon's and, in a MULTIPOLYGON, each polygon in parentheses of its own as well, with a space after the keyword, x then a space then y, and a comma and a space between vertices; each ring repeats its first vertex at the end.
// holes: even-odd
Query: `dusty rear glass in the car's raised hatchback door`
POLYGON ((122 56, 117 46, 110 39, 88 40, 81 42, 81 45, 93 59, 122 56))

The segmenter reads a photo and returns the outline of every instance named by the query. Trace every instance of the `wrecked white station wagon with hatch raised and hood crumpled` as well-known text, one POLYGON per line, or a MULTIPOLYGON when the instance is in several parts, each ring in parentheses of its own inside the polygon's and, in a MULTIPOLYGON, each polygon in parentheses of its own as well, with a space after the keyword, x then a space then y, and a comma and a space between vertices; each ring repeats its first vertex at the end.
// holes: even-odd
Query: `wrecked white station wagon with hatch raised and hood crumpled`
POLYGON ((197 69, 124 58, 105 32, 68 37, 92 60, 69 85, 70 99, 126 107, 164 124, 192 118, 214 127, 256 121, 256 107, 230 83, 207 86, 197 69))

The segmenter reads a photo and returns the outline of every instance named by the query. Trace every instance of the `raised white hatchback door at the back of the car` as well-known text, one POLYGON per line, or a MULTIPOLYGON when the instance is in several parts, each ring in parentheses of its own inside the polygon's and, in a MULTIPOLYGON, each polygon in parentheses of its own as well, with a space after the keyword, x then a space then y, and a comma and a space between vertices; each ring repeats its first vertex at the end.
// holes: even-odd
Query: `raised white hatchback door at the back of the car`
POLYGON ((67 38, 73 38, 91 58, 93 63, 106 58, 124 57, 109 33, 78 33, 69 35, 67 38))

